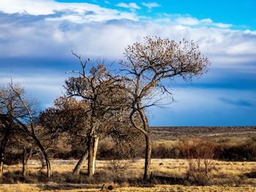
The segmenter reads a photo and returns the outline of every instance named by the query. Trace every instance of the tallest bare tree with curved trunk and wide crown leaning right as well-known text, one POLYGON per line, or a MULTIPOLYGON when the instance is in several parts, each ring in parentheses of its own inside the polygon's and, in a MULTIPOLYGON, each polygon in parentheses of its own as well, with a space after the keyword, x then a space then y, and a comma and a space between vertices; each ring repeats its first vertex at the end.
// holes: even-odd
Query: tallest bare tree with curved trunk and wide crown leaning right
POLYGON ((163 80, 173 80, 182 77, 191 80, 206 71, 209 61, 201 55, 198 45, 186 39, 181 42, 145 37, 143 42, 129 45, 124 52, 127 61, 121 61, 121 69, 129 83, 130 120, 135 128, 140 130, 146 140, 144 180, 151 172, 151 131, 148 126, 146 108, 159 104, 154 97, 157 93, 171 95, 163 80), (140 117, 140 124, 135 117, 140 117))

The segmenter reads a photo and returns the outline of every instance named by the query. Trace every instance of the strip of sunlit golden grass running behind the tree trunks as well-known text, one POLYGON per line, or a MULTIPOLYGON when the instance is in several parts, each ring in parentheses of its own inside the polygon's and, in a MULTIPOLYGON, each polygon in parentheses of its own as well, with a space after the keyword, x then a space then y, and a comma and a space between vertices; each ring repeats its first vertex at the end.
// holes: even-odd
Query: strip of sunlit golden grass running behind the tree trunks
MULTIPOLYGON (((72 172, 77 161, 75 160, 53 160, 51 161, 53 172, 72 172)), ((96 172, 108 172, 108 161, 98 160, 96 172)), ((256 163, 251 161, 238 162, 238 161, 215 161, 214 174, 217 176, 236 176, 244 172, 250 172, 256 169, 256 163)), ((29 161, 29 172, 39 172, 41 168, 39 161, 29 161)), ((128 172, 134 172, 137 175, 143 174, 144 160, 140 159, 131 163, 128 172)), ((151 168, 154 174, 165 174, 172 176, 184 176, 187 172, 187 161, 184 159, 152 159, 151 168), (161 165, 160 165, 161 164, 161 165)), ((5 166, 4 172, 18 172, 22 169, 21 164, 15 166, 5 166)), ((82 172, 86 172, 86 166, 83 166, 82 172)))

